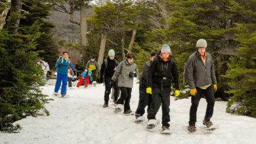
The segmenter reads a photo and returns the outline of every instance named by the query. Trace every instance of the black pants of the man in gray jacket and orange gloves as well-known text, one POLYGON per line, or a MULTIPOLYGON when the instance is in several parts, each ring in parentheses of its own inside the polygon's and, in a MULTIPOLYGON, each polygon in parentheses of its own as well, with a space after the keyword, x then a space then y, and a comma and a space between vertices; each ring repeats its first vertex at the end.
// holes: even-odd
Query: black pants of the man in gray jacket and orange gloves
POLYGON ((196 124, 196 111, 198 111, 198 104, 202 97, 202 94, 205 95, 205 99, 207 101, 205 119, 210 120, 210 118, 213 116, 213 107, 215 103, 213 85, 209 86, 206 90, 196 88, 196 91, 196 96, 191 96, 192 105, 190 107, 190 118, 188 122, 189 125, 196 124))

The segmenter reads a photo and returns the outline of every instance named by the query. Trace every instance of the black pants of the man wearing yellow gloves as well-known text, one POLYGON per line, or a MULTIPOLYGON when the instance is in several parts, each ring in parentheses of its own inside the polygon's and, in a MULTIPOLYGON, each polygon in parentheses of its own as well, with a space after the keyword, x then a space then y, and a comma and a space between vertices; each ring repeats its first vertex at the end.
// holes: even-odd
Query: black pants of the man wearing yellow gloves
POLYGON ((171 86, 164 87, 163 90, 161 90, 161 88, 152 88, 152 103, 148 111, 148 119, 155 119, 156 113, 158 113, 161 106, 161 123, 163 126, 167 126, 167 128, 170 126, 170 93, 171 86))

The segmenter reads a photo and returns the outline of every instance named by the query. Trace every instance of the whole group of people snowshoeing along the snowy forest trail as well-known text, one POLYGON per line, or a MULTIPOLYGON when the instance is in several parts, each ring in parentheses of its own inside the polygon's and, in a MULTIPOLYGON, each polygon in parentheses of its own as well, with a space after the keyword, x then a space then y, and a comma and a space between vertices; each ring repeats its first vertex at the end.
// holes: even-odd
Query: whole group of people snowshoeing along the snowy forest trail
MULTIPOLYGON (((211 117, 213 116, 213 107, 215 104, 214 91, 217 90, 217 81, 215 77, 215 69, 211 54, 205 52, 207 42, 205 39, 199 39, 196 43, 196 52, 194 52, 187 61, 186 65, 186 81, 190 88, 191 103, 190 119, 188 122, 188 131, 196 132, 196 112, 198 103, 202 94, 207 101, 207 109, 203 124, 208 128, 213 125, 211 117)), ((54 92, 57 93, 62 81, 61 94, 66 95, 65 82, 67 81, 64 72, 67 73, 68 65, 75 71, 72 63, 68 62, 68 52, 63 53, 62 60, 58 60, 56 68, 58 69, 57 81, 54 92), (61 65, 61 66, 60 66, 61 65)), ((130 114, 130 99, 133 88, 133 79, 138 77, 138 68, 135 63, 135 54, 128 52, 125 60, 120 63, 115 58, 113 49, 108 51, 108 57, 104 60, 100 69, 100 82, 104 82, 104 105, 108 107, 111 89, 114 88, 114 104, 115 111, 130 114), (119 92, 121 91, 121 96, 119 92)), ((92 75, 92 71, 98 70, 95 60, 87 63, 87 75, 92 75), (91 72, 90 72, 91 71, 91 72)), ((86 74, 85 74, 86 75, 86 74)), ((82 76, 83 77, 83 76, 82 76)), ((139 82, 139 104, 135 112, 137 122, 144 120, 145 108, 147 108, 148 129, 154 128, 158 121, 156 114, 162 109, 162 131, 169 130, 170 121, 170 93, 171 85, 175 88, 175 96, 179 96, 179 71, 177 64, 171 57, 171 48, 169 45, 163 45, 160 52, 152 52, 150 60, 145 62, 142 67, 142 74, 139 82)))

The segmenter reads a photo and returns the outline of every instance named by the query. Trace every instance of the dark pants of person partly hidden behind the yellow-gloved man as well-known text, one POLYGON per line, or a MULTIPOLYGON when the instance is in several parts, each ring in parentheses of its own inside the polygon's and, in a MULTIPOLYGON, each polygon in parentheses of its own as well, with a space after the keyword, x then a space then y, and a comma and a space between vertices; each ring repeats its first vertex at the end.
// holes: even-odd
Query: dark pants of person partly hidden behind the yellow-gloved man
POLYGON ((136 115, 144 115, 145 113, 145 107, 148 106, 147 112, 150 109, 150 105, 152 102, 152 95, 146 93, 146 86, 144 86, 143 84, 140 84, 139 86, 139 104, 137 107, 137 111, 136 111, 136 115))

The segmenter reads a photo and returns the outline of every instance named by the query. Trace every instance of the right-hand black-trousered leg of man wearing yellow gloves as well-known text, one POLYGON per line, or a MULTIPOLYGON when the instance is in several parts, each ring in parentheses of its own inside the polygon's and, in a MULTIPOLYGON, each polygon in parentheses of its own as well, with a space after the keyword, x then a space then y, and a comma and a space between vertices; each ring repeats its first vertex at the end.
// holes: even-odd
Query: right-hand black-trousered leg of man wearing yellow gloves
POLYGON ((163 124, 163 126, 166 126, 167 128, 169 128, 170 126, 170 93, 171 87, 163 88, 163 91, 161 91, 161 123, 163 124))

